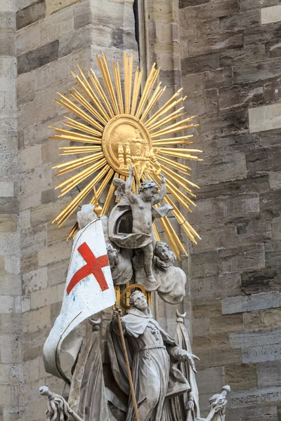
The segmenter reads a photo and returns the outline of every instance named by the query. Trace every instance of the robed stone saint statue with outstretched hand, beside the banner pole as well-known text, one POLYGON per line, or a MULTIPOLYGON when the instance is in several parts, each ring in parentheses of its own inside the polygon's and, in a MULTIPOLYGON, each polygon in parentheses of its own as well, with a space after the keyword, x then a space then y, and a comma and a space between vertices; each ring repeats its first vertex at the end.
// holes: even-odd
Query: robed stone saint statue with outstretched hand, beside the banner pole
MULTIPOLYGON (((131 309, 122 317, 133 387, 141 421, 174 421, 167 401, 190 390, 178 364, 186 361, 194 372, 197 356, 178 347, 157 321, 152 318, 145 295, 140 291, 131 294, 131 309)), ((117 385, 129 395, 124 354, 116 320, 117 312, 107 330, 107 347, 112 373, 117 385)), ((135 420, 133 403, 129 396, 126 421, 135 420)), ((181 420, 177 420, 181 421, 181 420)))

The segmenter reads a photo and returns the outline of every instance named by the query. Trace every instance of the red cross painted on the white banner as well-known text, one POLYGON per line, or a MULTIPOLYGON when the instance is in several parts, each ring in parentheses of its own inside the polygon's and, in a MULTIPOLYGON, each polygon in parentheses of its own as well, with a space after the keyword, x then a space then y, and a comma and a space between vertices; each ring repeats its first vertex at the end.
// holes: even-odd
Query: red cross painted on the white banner
POLYGON ((77 248, 77 250, 85 260, 86 265, 77 270, 77 272, 72 276, 72 279, 67 286, 67 295, 70 295, 72 289, 75 285, 77 285, 77 283, 79 283, 82 279, 86 278, 86 276, 89 276, 90 274, 95 276, 101 290, 107 290, 108 285, 102 271, 103 267, 109 266, 107 255, 102 255, 99 258, 96 258, 91 248, 89 248, 88 244, 85 242, 82 243, 81 246, 77 248))

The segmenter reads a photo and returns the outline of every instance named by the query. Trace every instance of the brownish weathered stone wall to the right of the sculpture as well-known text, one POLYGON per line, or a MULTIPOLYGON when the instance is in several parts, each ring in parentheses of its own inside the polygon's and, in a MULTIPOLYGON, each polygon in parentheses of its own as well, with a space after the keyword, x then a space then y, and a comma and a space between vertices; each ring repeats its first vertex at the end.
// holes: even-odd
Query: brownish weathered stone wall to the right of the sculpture
POLYGON ((190 222, 193 351, 202 408, 280 420, 281 120, 277 0, 180 0, 183 88, 204 162, 190 222), (278 415, 277 415, 278 413, 278 415))

